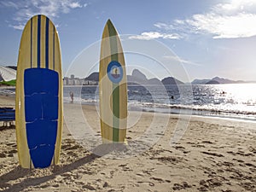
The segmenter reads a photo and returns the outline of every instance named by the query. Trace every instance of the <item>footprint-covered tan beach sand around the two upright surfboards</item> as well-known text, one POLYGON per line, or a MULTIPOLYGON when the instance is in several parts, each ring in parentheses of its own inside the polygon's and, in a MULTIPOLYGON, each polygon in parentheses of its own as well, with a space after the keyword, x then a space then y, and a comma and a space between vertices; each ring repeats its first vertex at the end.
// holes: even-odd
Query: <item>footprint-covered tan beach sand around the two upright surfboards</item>
MULTIPOLYGON (((15 107, 15 98, 1 96, 0 107, 6 106, 15 107)), ((100 143, 95 106, 66 103, 64 109, 58 166, 20 168, 15 129, 1 128, 0 191, 256 191, 253 122, 192 117, 187 125, 188 119, 177 115, 130 112, 128 145, 111 151, 95 148, 100 143), (83 125, 90 130, 86 136, 76 134, 83 125), (179 127, 184 129, 173 135, 179 127)))

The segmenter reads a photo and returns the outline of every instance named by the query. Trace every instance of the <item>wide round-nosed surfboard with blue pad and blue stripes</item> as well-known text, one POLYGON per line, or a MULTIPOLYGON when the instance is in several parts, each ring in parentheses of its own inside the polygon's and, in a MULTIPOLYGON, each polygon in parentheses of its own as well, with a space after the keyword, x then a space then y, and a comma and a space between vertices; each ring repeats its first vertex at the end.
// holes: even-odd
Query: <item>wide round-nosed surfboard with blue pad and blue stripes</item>
POLYGON ((58 32, 48 17, 35 15, 22 32, 16 74, 15 126, 21 167, 58 163, 62 89, 58 32))

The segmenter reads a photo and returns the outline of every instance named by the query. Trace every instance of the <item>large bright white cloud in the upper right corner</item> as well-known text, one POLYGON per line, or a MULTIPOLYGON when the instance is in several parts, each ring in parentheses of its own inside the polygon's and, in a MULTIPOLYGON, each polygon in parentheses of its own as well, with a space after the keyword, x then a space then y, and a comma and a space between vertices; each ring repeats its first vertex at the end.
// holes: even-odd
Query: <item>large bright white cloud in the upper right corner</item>
POLYGON ((172 24, 156 23, 166 32, 184 34, 210 34, 212 38, 249 38, 256 35, 256 1, 233 0, 218 3, 205 14, 188 19, 173 20, 172 24))

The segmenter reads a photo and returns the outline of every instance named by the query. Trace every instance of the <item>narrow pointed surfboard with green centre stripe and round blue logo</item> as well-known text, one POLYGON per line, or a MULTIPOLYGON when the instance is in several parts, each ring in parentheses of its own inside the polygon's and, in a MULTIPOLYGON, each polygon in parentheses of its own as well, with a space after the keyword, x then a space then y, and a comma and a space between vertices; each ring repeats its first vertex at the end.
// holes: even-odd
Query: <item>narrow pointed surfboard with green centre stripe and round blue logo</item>
POLYGON ((102 33, 99 72, 102 143, 125 143, 126 82, 125 58, 119 34, 108 20, 102 33))

